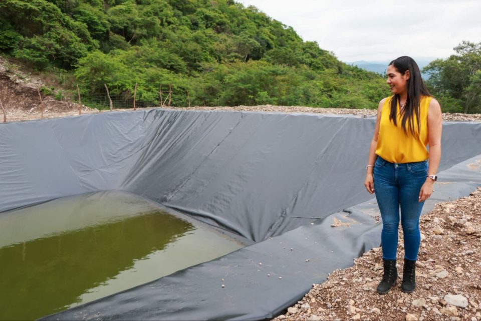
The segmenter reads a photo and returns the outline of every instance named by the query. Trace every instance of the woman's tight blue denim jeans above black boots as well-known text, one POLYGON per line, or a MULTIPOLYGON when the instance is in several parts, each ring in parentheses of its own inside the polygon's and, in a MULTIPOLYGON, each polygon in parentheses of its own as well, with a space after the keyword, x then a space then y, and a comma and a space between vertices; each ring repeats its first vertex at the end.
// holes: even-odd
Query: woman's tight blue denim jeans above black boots
POLYGON ((399 207, 404 233, 404 257, 416 260, 421 243, 419 216, 424 202, 419 191, 426 181, 427 160, 415 163, 390 163, 378 157, 374 165, 374 190, 382 218, 382 258, 396 259, 399 207))

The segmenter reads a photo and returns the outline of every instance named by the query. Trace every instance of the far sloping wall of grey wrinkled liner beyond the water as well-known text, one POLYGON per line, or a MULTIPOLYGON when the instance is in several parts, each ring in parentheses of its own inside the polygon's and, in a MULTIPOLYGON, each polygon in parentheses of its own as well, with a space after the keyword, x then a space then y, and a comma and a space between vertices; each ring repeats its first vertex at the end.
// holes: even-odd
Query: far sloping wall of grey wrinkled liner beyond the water
MULTIPOLYGON (((374 122, 154 109, 7 124, 0 211, 118 189, 261 241, 370 197, 374 122)), ((441 169, 480 154, 480 132, 446 123, 441 169)))

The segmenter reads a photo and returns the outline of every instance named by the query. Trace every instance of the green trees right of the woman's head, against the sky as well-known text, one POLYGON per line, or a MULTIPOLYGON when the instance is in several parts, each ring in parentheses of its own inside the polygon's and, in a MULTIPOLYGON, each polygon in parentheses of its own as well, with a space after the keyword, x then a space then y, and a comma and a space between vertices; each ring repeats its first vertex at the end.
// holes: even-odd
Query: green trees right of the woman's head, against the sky
POLYGON ((481 43, 463 41, 454 51, 423 69, 430 75, 427 86, 443 111, 481 113, 481 43))

